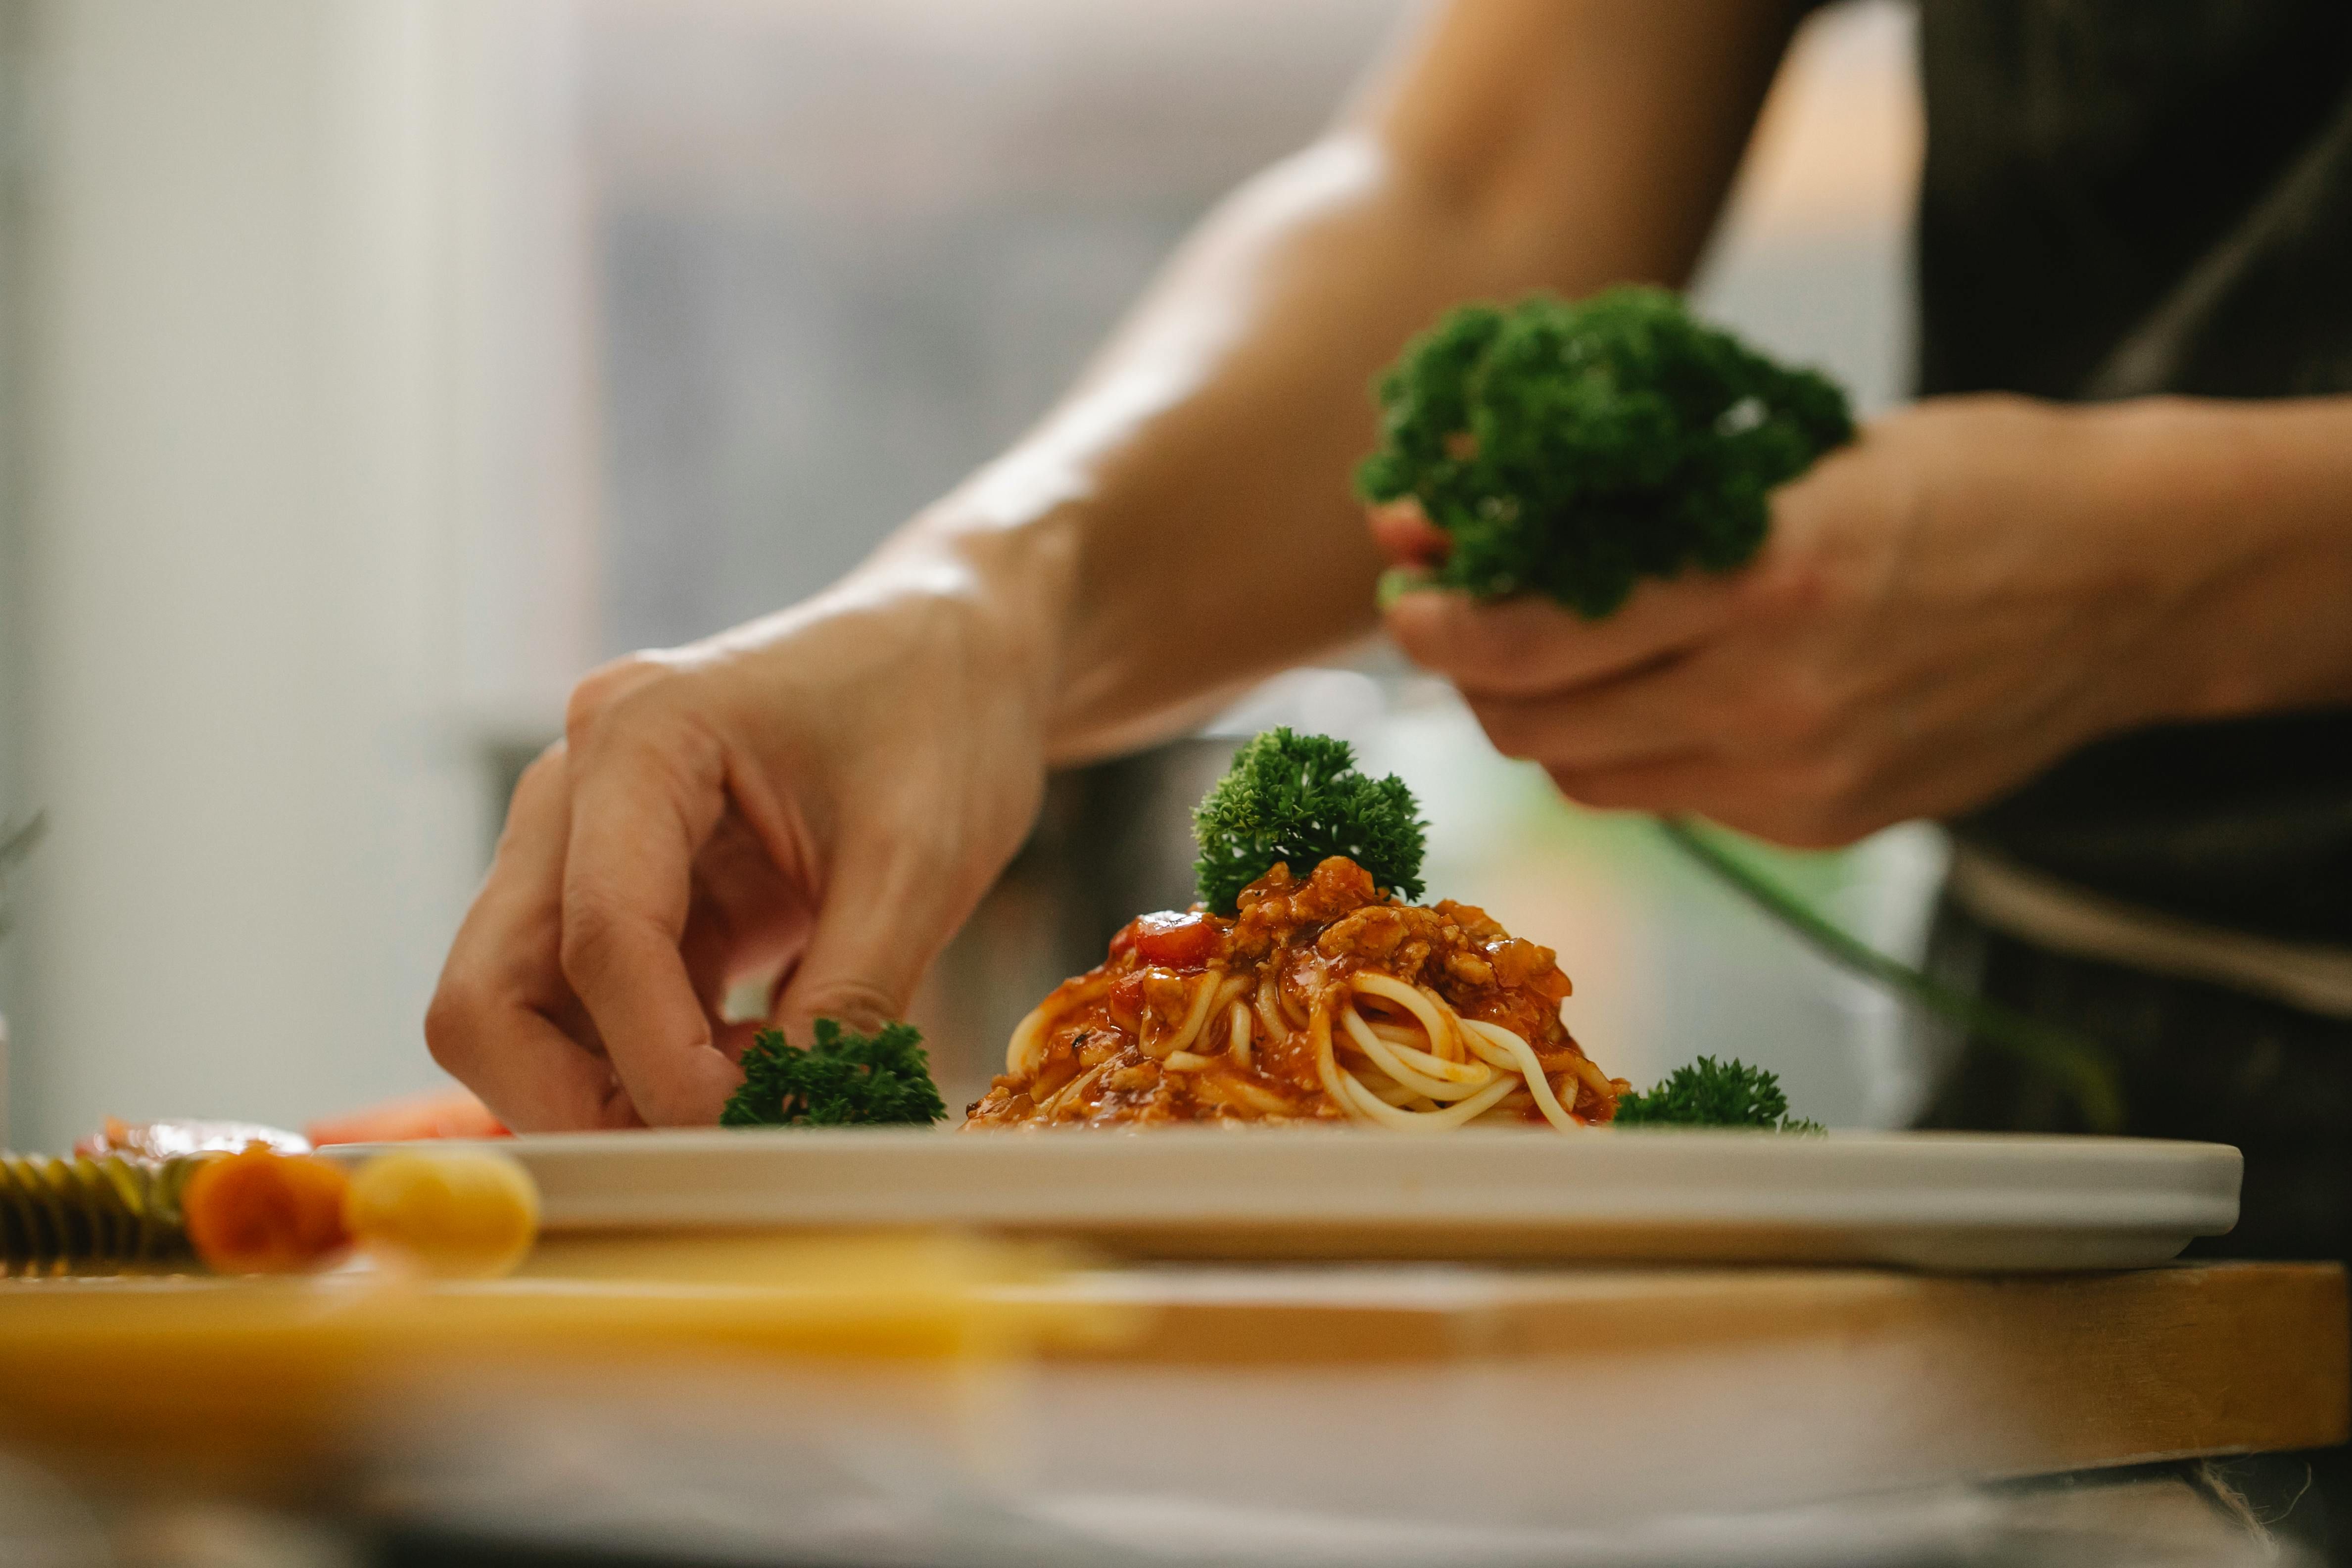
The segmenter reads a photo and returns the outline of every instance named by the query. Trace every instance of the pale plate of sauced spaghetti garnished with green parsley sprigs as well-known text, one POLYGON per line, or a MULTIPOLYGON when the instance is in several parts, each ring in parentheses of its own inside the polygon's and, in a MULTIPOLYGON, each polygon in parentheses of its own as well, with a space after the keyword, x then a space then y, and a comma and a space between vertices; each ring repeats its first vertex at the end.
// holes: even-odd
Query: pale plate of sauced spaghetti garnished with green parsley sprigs
POLYGON ((1823 1133, 1771 1074, 1712 1058, 1635 1091, 1562 1023, 1557 952, 1423 903, 1421 835, 1395 776, 1270 731, 1195 816, 1200 898, 1131 919, 1037 1001, 953 1135, 929 1126, 946 1107, 913 1027, 816 1020, 804 1048, 764 1032, 746 1051, 727 1126, 501 1147, 550 1232, 2100 1269, 2237 1222, 2223 1145, 1823 1133))

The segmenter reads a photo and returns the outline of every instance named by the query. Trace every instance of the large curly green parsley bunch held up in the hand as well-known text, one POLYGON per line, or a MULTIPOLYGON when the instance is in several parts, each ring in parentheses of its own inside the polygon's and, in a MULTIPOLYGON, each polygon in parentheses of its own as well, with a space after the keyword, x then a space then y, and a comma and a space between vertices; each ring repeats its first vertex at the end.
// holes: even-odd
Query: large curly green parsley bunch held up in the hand
POLYGON ((1853 437, 1846 395, 1696 320, 1668 289, 1461 306, 1381 376, 1367 501, 1451 536, 1437 583, 1588 618, 1642 576, 1731 571, 1766 496, 1853 437))

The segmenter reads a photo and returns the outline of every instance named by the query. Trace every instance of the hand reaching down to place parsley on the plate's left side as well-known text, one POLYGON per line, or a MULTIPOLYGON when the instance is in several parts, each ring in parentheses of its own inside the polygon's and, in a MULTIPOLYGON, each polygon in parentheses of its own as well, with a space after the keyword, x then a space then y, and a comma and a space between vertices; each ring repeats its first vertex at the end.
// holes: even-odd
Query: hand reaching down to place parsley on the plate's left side
POLYGON ((426 1013, 515 1131, 715 1121, 762 1023, 873 1027, 1018 849, 1033 658, 967 585, 844 583, 579 684, 426 1013))

